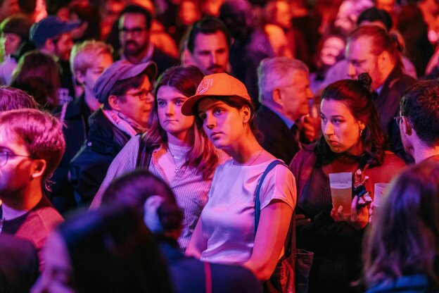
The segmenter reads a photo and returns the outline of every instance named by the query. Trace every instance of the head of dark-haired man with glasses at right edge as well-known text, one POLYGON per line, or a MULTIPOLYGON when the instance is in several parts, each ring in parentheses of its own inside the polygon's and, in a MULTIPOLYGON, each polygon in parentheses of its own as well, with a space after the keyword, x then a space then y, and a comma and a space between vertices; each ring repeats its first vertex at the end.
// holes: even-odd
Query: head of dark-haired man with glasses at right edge
POLYGON ((402 94, 400 116, 402 144, 415 163, 439 161, 439 82, 416 82, 402 94))

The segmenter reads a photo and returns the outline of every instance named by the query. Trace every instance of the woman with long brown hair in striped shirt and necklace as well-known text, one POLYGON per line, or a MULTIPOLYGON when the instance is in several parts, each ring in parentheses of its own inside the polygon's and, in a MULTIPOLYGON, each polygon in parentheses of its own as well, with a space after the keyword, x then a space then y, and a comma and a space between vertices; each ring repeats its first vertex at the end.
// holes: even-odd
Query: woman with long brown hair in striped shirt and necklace
POLYGON ((113 178, 135 168, 146 168, 170 185, 184 210, 186 223, 179 238, 182 249, 186 249, 208 200, 213 171, 220 161, 220 152, 198 130, 193 117, 183 116, 181 111, 183 102, 195 94, 202 78, 194 66, 169 68, 159 77, 148 131, 141 139, 131 139, 116 156, 91 204, 91 208, 101 204, 103 192, 113 178))

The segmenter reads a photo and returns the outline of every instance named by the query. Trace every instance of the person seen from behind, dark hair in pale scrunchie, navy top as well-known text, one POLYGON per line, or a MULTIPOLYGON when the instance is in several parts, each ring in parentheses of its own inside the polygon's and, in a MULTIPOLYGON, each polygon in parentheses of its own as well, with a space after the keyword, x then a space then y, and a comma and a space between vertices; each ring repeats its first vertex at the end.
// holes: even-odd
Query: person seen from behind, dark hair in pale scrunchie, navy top
POLYGON ((203 263, 182 254, 177 244, 182 232, 182 211, 170 187, 147 170, 134 170, 113 180, 103 197, 103 204, 108 202, 132 206, 143 214, 146 226, 158 239, 174 292, 204 293, 212 292, 212 288, 224 293, 261 292, 260 282, 245 268, 203 263), (206 267, 210 270, 210 284, 206 267))

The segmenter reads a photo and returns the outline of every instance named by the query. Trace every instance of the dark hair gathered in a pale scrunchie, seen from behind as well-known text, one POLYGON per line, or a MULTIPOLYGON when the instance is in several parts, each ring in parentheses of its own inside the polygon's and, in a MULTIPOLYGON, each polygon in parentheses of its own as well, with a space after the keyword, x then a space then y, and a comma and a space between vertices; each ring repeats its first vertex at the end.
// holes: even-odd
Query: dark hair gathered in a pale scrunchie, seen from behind
POLYGON ((175 201, 169 186, 148 170, 134 170, 117 177, 103 194, 103 204, 123 204, 144 213, 144 204, 149 197, 160 196, 163 201, 155 210, 161 231, 167 232, 182 226, 182 210, 175 201))

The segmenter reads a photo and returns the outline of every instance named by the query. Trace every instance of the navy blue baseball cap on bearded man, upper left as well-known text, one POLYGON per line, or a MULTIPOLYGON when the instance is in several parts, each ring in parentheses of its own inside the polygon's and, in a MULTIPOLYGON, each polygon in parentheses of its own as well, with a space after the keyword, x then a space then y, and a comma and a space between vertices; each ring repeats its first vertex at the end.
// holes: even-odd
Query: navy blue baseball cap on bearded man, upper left
POLYGON ((30 27, 29 38, 39 48, 44 45, 46 39, 53 39, 65 32, 70 32, 79 25, 81 25, 80 21, 67 22, 49 15, 30 27))

